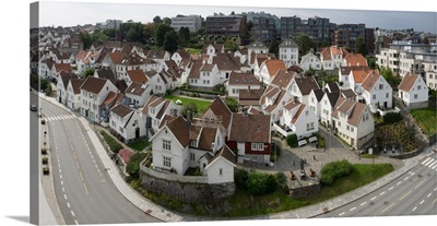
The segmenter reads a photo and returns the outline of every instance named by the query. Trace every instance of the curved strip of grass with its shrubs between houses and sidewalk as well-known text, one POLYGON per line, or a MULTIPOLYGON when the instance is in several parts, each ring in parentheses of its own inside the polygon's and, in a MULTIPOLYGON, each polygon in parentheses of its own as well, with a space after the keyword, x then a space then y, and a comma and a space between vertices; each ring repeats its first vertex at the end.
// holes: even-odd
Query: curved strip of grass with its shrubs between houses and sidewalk
POLYGON ((167 195, 160 195, 141 188, 139 179, 131 181, 132 188, 154 202, 184 214, 208 217, 247 217, 296 210, 316 204, 365 186, 394 170, 391 164, 350 164, 341 160, 327 165, 327 181, 320 193, 311 198, 293 199, 288 195, 283 173, 264 174, 252 170, 236 170, 236 193, 232 197, 211 200, 208 203, 187 204, 167 195), (331 174, 332 173, 332 174, 331 174))

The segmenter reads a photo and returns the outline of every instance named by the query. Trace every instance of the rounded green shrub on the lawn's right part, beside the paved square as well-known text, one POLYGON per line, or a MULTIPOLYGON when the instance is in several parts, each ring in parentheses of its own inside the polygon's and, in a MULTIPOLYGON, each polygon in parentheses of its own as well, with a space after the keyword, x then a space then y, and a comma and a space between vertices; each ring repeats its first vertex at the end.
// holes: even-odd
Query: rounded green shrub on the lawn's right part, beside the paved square
POLYGON ((347 160, 335 160, 323 166, 320 182, 331 185, 334 179, 347 176, 352 171, 352 165, 347 160))

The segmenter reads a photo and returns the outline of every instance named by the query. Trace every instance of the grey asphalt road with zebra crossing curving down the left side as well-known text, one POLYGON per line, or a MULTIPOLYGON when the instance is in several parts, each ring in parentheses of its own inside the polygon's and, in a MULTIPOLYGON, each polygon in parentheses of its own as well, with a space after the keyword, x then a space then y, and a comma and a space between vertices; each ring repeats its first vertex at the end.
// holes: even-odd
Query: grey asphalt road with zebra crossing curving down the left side
POLYGON ((51 148, 52 177, 67 224, 150 223, 115 188, 76 116, 42 98, 51 148))

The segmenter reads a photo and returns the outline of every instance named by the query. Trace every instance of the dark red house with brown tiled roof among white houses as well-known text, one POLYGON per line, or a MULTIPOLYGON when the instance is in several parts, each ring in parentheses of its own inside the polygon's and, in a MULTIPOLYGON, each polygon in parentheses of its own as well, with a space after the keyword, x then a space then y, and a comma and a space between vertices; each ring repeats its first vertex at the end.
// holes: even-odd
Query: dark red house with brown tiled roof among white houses
POLYGON ((233 114, 226 144, 238 150, 238 162, 269 163, 271 151, 269 115, 233 114))

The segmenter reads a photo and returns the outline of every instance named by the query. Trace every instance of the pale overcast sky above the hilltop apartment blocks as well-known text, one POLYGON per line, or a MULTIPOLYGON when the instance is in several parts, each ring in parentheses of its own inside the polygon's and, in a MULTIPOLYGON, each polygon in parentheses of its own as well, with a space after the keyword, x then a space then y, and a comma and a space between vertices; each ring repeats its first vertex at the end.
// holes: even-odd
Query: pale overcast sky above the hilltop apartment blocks
POLYGON ((78 24, 83 25, 105 22, 107 19, 117 19, 123 22, 132 20, 134 22, 147 23, 156 15, 161 17, 172 17, 177 14, 200 14, 205 17, 212 15, 214 12, 229 14, 232 11, 235 11, 235 13, 264 11, 265 13, 275 14, 279 17, 297 15, 300 19, 308 19, 317 15, 328 17, 331 22, 336 24, 365 23, 366 27, 413 27, 415 31, 430 33, 436 33, 437 29, 437 9, 434 7, 435 4, 430 4, 428 0, 416 0, 414 3, 413 1, 398 0, 397 5, 385 5, 378 3, 376 0, 350 1, 350 3, 347 3, 347 1, 336 0, 311 0, 293 3, 291 3, 292 1, 286 1, 287 3, 277 2, 275 4, 267 4, 268 1, 265 0, 251 0, 251 5, 255 7, 241 7, 241 4, 231 0, 221 0, 220 2, 211 2, 209 4, 206 1, 196 0, 185 0, 184 2, 172 0, 130 0, 127 2, 129 3, 120 3, 120 1, 111 0, 95 0, 93 2, 81 2, 76 0, 42 1, 39 5, 39 25, 74 26, 78 24), (156 4, 156 2, 161 2, 161 4, 156 4), (428 7, 422 5, 423 8, 417 8, 421 2, 428 7), (366 4, 367 8, 359 4, 366 4), (409 5, 408 9, 402 8, 404 4, 409 5))

